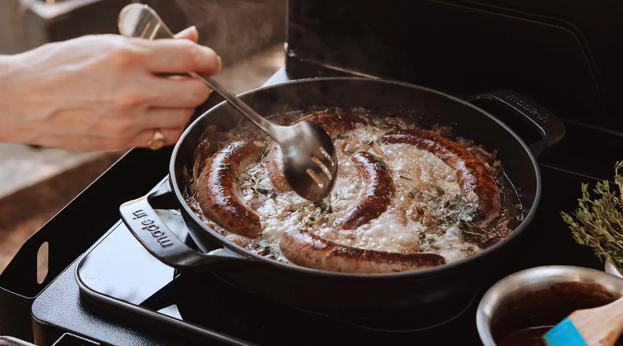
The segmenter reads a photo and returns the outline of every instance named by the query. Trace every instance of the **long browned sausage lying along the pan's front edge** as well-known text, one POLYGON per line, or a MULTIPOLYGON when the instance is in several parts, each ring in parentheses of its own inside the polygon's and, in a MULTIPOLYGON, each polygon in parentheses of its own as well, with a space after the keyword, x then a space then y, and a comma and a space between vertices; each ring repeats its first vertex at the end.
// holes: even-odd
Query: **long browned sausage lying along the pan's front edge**
POLYGON ((325 271, 372 274, 412 271, 445 264, 444 257, 438 254, 399 254, 357 249, 300 229, 283 233, 279 247, 283 256, 297 266, 325 271))

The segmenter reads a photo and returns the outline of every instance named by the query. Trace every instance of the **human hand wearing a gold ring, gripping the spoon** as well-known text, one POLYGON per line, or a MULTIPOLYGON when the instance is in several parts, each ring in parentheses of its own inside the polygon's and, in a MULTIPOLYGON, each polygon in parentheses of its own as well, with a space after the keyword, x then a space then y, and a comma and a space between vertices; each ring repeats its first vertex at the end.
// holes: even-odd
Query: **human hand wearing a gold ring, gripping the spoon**
MULTIPOLYGON (((210 90, 192 77, 214 75, 221 59, 178 39, 83 36, 0 56, 0 141, 72 151, 147 147, 156 129, 175 143, 210 90)), ((179 39, 184 38, 184 39, 179 39)))

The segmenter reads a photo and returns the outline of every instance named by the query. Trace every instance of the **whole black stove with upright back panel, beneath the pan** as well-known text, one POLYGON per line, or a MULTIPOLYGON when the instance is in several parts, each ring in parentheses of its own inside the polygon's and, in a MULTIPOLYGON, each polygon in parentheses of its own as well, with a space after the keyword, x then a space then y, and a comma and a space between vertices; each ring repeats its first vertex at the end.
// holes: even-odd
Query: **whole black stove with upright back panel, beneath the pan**
MULTIPOLYGON (((392 315, 327 315, 260 299, 220 276, 176 272, 133 238, 118 213, 121 203, 167 183, 173 148, 131 150, 34 234, 0 275, 0 334, 34 339, 39 345, 51 345, 65 332, 104 345, 389 344, 414 340, 479 345, 476 305, 498 279, 546 264, 602 269, 591 249, 574 243, 558 213, 575 208, 581 183, 611 179, 614 162, 621 160, 616 150, 611 150, 623 146, 623 137, 617 132, 619 120, 611 115, 615 111, 606 110, 605 105, 614 103, 604 101, 611 95, 606 91, 612 89, 598 89, 595 85, 607 84, 591 81, 591 71, 616 76, 616 68, 602 60, 584 63, 578 60, 583 55, 571 54, 570 48, 563 52, 563 47, 577 45, 563 45, 568 36, 556 36, 559 31, 549 25, 533 26, 533 19, 548 15, 576 23, 581 28, 578 31, 588 37, 589 44, 581 47, 601 44, 611 49, 620 45, 611 40, 620 30, 609 17, 612 14, 614 18, 617 9, 606 2, 591 11, 584 11, 583 4, 566 6, 565 11, 584 12, 578 19, 563 12, 564 4, 556 2, 532 4, 541 6, 532 14, 526 13, 526 6, 532 6, 528 3, 501 2, 493 6, 418 0, 388 1, 379 6, 367 1, 290 1, 286 66, 267 81, 268 85, 352 75, 402 80, 459 96, 510 89, 543 103, 563 119, 565 137, 538 159, 543 190, 530 227, 515 242, 518 251, 500 270, 483 275, 477 292, 392 315), (528 19, 516 19, 519 14, 528 19), (532 29, 528 31, 527 26, 532 29), (523 41, 509 39, 513 34, 526 36, 523 41), (318 46, 319 42, 326 46, 318 46), (540 54, 550 53, 549 46, 556 44, 560 44, 561 54, 540 54), (551 63, 544 67, 545 61, 559 66, 551 63), (600 128, 604 122, 611 129, 600 128), (37 284, 35 260, 44 241, 50 248, 49 276, 37 284), (82 285, 81 290, 77 279, 82 279, 80 285, 88 282, 89 289, 82 285)), ((197 115, 221 101, 212 95, 197 115)), ((513 120, 504 108, 488 100, 475 104, 500 118, 526 143, 538 141, 530 127, 513 120)), ((197 249, 179 223, 183 222, 179 213, 156 212, 168 219, 169 228, 179 238, 197 249)))

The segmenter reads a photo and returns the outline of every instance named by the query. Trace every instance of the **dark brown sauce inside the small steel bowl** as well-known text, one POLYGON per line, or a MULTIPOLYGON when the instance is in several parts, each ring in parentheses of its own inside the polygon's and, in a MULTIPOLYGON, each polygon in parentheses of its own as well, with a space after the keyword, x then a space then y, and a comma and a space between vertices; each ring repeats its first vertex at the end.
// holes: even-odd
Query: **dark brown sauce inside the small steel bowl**
MULTIPOLYGON (((606 305, 616 298, 599 284, 581 282, 527 292, 509 300, 494 317, 493 339, 498 346, 545 346, 541 336, 571 312, 606 305)), ((623 346, 623 338, 615 345, 623 346)))

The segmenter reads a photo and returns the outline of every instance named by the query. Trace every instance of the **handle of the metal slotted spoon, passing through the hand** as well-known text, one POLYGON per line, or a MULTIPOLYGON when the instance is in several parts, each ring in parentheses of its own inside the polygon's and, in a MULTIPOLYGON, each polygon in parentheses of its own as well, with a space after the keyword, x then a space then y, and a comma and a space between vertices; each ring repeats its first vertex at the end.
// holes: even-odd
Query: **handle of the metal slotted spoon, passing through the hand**
MULTIPOLYGON (((133 3, 124 7, 119 14, 118 26, 120 33, 128 37, 143 37, 150 40, 174 38, 173 32, 164 24, 156 11, 145 4, 133 3)), ((255 112, 253 108, 242 102, 236 95, 222 87, 219 82, 212 77, 199 75, 195 72, 188 72, 188 75, 204 82, 210 89, 216 91, 217 94, 221 95, 242 115, 249 118, 251 122, 275 140, 275 137, 277 137, 276 125, 255 112)))

